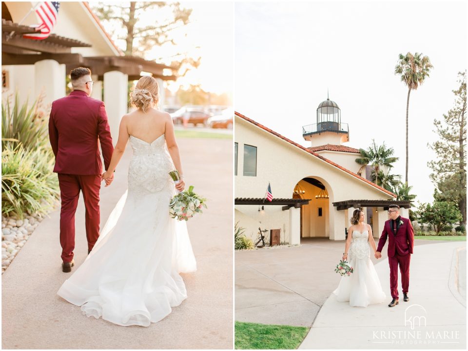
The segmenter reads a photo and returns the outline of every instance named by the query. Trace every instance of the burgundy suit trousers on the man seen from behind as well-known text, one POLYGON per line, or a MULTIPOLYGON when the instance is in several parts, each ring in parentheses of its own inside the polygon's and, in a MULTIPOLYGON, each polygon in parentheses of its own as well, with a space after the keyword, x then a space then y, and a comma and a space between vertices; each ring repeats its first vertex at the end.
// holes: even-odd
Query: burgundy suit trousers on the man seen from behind
POLYGON ((99 175, 75 175, 59 173, 60 187, 60 245, 62 261, 71 262, 75 249, 75 212, 78 206, 79 192, 83 194, 86 208, 86 238, 88 250, 92 250, 99 237, 99 175))

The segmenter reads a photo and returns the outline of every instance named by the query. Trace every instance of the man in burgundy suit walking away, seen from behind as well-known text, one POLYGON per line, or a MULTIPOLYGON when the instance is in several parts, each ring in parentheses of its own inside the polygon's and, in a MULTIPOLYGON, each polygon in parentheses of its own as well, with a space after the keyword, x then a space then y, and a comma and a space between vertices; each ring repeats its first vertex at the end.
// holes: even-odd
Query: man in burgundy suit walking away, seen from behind
MULTIPOLYGON (((52 103, 49 119, 50 145, 55 155, 54 172, 60 187, 60 245, 62 271, 74 266, 75 212, 79 192, 86 207, 86 238, 88 253, 99 236, 99 190, 102 162, 109 167, 114 147, 104 103, 90 98, 93 91, 91 71, 78 67, 70 73, 73 91, 52 103)), ((111 178, 106 183, 112 182, 111 178)))

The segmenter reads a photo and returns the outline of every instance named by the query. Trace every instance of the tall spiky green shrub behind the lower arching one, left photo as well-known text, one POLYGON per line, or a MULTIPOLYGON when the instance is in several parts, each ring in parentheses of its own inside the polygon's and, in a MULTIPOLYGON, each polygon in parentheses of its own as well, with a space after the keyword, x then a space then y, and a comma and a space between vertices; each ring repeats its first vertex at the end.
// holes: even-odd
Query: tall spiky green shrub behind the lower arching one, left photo
POLYGON ((1 147, 17 142, 28 150, 48 145, 48 126, 45 114, 41 111, 42 96, 28 107, 28 101, 20 105, 18 93, 13 107, 7 99, 1 104, 1 147))

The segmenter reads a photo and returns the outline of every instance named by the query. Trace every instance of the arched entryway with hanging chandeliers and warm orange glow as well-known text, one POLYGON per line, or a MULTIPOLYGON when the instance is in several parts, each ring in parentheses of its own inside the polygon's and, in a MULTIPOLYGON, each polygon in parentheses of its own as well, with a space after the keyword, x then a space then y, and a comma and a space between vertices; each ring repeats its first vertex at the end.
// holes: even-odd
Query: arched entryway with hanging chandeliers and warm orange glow
POLYGON ((296 183, 292 198, 310 200, 301 206, 301 240, 330 237, 332 196, 331 186, 320 177, 305 177, 296 183))

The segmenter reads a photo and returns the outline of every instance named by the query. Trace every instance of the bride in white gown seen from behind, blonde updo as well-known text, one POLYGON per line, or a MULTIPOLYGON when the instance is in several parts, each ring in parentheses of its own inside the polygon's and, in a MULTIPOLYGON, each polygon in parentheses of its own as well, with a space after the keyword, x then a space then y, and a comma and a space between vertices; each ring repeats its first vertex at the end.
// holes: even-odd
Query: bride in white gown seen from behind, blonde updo
MULTIPOLYGON (((169 214, 177 193, 169 172, 183 172, 172 118, 152 108, 158 100, 156 80, 142 77, 131 100, 138 109, 122 118, 109 169, 102 175, 108 186, 130 140, 128 190, 58 294, 88 317, 147 327, 187 298, 179 272, 195 271, 196 262, 186 222, 169 214)), ((177 188, 183 187, 181 181, 177 188)))

